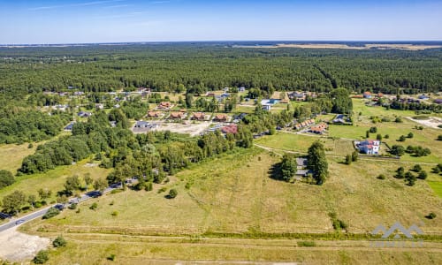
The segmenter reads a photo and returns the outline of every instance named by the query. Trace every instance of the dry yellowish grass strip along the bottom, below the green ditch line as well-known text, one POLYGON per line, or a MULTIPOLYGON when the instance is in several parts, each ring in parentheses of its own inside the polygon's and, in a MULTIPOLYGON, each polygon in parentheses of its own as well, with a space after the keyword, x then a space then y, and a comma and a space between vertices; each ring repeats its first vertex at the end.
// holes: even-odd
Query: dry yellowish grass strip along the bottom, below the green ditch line
MULTIPOLYGON (((54 234, 53 237, 57 237, 54 234)), ((301 240, 158 238, 122 235, 68 234, 68 245, 54 250, 47 264, 440 264, 440 245, 415 248, 373 248, 370 242, 301 240), (115 261, 108 258, 114 254, 115 261), (204 262, 206 261, 206 262, 204 262), (209 262, 208 262, 209 261, 209 262), (210 262, 211 261, 211 262, 210 262)))

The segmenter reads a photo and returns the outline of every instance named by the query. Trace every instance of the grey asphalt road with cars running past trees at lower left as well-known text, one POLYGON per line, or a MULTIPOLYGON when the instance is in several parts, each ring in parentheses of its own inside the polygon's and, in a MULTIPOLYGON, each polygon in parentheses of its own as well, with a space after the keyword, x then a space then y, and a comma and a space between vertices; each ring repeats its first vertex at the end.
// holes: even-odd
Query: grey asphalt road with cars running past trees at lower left
MULTIPOLYGON (((120 185, 111 185, 111 186, 107 187, 104 190, 104 193, 109 193, 110 191, 112 191, 112 190, 114 190, 116 188, 119 188, 119 187, 120 187, 120 185)), ((63 207, 65 208, 65 207, 67 207, 71 203, 80 203, 80 202, 83 202, 83 201, 88 201, 89 199, 96 198, 96 197, 98 197, 100 195, 101 195, 101 193, 100 192, 96 192, 96 191, 84 193, 84 194, 82 194, 80 196, 80 198, 73 198, 73 199, 69 200, 69 202, 66 203, 65 205, 63 205, 63 207)), ((11 220, 8 223, 4 223, 4 224, 0 225, 0 232, 8 230, 8 229, 10 229, 12 227, 15 227, 15 226, 19 226, 22 223, 27 223, 27 222, 29 222, 31 220, 36 219, 36 218, 41 218, 42 216, 44 216, 44 214, 46 214, 46 212, 50 208, 55 207, 57 205, 60 205, 60 204, 57 203, 57 204, 54 204, 54 205, 50 205, 50 206, 48 206, 46 208, 42 208, 42 209, 39 209, 38 211, 32 212, 32 213, 30 213, 30 214, 28 214, 26 216, 20 216, 20 217, 17 217, 17 218, 11 218, 11 220)))

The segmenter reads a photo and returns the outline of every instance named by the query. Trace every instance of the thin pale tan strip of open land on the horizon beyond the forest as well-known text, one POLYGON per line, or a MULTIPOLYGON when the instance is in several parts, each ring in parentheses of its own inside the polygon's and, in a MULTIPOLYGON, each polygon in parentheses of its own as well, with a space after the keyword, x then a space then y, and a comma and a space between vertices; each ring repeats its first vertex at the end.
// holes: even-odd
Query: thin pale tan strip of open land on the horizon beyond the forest
POLYGON ((422 50, 422 49, 434 49, 434 48, 442 48, 441 45, 413 45, 413 44, 365 44, 364 46, 354 47, 348 46, 347 44, 328 44, 328 43, 320 43, 320 44, 277 44, 277 45, 237 45, 234 48, 305 48, 305 49, 408 49, 408 50, 422 50))

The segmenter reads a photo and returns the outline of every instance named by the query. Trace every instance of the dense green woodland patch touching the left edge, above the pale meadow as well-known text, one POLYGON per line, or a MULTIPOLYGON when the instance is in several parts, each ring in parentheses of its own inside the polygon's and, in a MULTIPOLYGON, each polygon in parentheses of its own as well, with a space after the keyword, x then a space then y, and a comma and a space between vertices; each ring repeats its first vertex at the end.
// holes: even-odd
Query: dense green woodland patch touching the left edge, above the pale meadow
POLYGON ((72 117, 69 113, 57 111, 51 115, 38 110, 2 112, 4 115, 0 117, 0 143, 48 140, 60 133, 72 117))

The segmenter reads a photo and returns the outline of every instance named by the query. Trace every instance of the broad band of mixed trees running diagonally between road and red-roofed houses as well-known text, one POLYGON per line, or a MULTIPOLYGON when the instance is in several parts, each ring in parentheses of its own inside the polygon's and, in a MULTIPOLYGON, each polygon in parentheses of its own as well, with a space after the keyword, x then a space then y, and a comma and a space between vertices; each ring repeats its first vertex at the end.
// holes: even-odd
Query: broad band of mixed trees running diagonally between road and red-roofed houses
POLYGON ((235 147, 252 146, 252 133, 244 125, 239 125, 239 132, 234 135, 224 137, 216 132, 190 138, 171 132, 135 135, 125 125, 118 125, 126 119, 121 110, 111 110, 109 114, 98 111, 88 122, 73 125, 72 136, 39 146, 34 155, 23 160, 19 172, 44 172, 94 156, 102 162, 102 167, 115 168, 108 178, 110 182, 134 176, 161 181, 166 173, 174 174, 189 163, 198 163, 235 147), (117 126, 111 128, 110 120, 116 120, 117 126))

